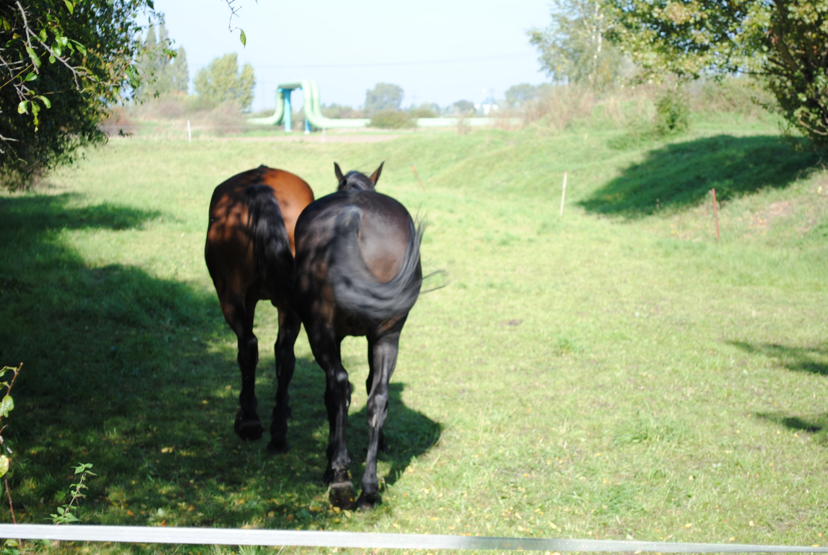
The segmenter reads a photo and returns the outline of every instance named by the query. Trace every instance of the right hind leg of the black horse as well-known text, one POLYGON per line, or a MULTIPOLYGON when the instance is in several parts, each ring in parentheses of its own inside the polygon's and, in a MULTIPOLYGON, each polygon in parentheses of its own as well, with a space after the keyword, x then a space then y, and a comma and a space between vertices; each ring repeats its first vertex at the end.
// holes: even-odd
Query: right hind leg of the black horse
POLYGON ((368 340, 368 356, 372 361, 373 383, 368 390, 368 453, 365 456, 365 473, 362 493, 357 506, 361 510, 373 509, 382 502, 377 478, 377 454, 383 439, 383 424, 388 415, 388 382, 397 365, 399 332, 388 333, 378 339, 368 340))

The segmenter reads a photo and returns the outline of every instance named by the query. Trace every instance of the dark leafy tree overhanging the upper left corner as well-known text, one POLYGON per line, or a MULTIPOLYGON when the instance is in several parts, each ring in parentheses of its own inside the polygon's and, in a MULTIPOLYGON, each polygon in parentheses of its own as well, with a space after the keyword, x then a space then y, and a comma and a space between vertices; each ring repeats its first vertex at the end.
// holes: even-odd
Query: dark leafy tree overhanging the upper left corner
POLYGON ((0 186, 26 188, 106 140, 99 123, 140 84, 147 13, 160 19, 151 0, 0 3, 0 186))

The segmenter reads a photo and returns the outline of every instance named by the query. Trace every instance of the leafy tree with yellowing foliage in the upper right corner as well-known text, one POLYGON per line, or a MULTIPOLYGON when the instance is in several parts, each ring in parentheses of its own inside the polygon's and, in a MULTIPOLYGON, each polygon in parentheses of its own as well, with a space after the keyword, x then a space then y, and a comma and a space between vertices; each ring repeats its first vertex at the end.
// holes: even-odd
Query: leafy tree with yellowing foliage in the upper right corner
POLYGON ((828 146, 828 12, 821 0, 609 0, 611 39, 643 76, 753 75, 792 127, 828 146))

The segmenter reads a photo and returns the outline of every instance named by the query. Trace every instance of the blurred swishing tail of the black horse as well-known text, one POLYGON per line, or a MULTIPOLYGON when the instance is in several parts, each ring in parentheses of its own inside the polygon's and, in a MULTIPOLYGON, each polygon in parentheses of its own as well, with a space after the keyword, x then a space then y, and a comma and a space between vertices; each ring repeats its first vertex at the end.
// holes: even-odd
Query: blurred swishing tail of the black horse
POLYGON ((420 294, 420 241, 422 227, 408 218, 408 245, 397 275, 387 283, 378 280, 368 267, 359 249, 359 227, 362 214, 350 207, 336 222, 335 245, 329 276, 337 304, 358 318, 382 322, 403 316, 412 309, 420 294))

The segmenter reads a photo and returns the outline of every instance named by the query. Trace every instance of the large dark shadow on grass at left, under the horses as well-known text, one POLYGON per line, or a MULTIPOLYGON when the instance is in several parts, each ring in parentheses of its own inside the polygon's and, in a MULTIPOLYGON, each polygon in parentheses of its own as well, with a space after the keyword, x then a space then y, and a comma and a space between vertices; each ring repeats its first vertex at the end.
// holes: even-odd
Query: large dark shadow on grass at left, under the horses
MULTIPOLYGON (((70 466, 91 462, 99 476, 77 513, 86 523, 336 527, 320 482, 328 435, 324 373, 307 358, 296 362, 291 452, 268 457, 267 438, 239 440, 235 337, 215 295, 137 267, 86 266, 61 230, 126 229, 160 214, 73 206, 82 200, 0 200, 0 362, 25 363, 13 392, 17 410, 4 419, 3 433, 15 452, 10 485, 18 521, 48 519, 68 501, 70 466)), ((267 330, 273 337, 264 332, 262 353, 276 330, 267 330)), ((272 365, 260 365, 266 426, 273 374, 272 365)), ((389 483, 440 433, 438 423, 407 409, 401 392, 402 384, 392 385, 389 483)), ((364 420, 364 412, 349 420, 354 460, 367 443, 364 420)), ((0 520, 10 521, 2 504, 0 520)))

